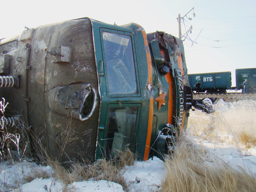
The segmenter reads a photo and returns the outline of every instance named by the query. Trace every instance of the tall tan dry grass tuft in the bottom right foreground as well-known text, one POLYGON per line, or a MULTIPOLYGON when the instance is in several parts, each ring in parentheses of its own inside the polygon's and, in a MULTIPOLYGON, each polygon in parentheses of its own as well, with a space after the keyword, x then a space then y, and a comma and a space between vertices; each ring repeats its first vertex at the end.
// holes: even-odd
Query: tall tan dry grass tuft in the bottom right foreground
POLYGON ((237 171, 202 146, 183 137, 174 153, 165 158, 167 176, 162 191, 247 192, 256 191, 256 178, 242 168, 237 171))

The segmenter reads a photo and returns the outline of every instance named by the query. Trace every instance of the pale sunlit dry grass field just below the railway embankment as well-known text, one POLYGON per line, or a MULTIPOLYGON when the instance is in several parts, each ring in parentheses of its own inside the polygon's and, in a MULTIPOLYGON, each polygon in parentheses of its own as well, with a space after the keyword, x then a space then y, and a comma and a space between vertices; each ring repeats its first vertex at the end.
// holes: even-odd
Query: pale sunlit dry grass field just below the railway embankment
POLYGON ((255 106, 255 100, 226 104, 219 101, 213 114, 193 111, 189 117, 188 134, 212 143, 238 145, 242 149, 256 146, 255 106))

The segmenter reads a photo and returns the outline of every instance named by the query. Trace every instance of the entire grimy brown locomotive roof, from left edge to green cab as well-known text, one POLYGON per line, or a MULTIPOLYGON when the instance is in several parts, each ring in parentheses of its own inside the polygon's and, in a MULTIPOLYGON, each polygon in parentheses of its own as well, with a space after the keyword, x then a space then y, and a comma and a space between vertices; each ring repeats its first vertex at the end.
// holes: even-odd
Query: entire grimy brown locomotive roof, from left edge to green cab
POLYGON ((0 89, 9 102, 7 115, 27 118, 34 145, 41 141, 52 157, 94 160, 100 97, 90 19, 25 30, 19 41, 0 44, 3 53, 12 57, 9 75, 20 83, 0 89))

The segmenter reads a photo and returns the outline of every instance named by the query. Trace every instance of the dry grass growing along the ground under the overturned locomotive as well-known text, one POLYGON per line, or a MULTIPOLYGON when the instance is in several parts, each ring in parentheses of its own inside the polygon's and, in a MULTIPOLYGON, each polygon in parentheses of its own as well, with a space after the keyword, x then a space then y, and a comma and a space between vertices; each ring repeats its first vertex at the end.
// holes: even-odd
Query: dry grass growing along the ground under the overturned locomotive
MULTIPOLYGON (((65 137, 65 142, 63 142, 63 149, 65 148, 65 144, 68 139, 72 136, 73 129, 72 121, 67 119, 67 134, 65 137)), ((116 151, 116 155, 114 159, 106 160, 106 159, 98 159, 95 162, 88 162, 87 160, 80 159, 79 161, 71 161, 67 163, 61 164, 56 158, 51 157, 48 150, 44 147, 39 139, 39 136, 30 132, 26 126, 24 126, 24 138, 28 138, 27 134, 33 138, 33 141, 36 143, 34 145, 34 151, 36 154, 36 158, 38 163, 43 165, 50 165, 54 169, 53 175, 48 175, 47 173, 38 172, 33 174, 33 176, 28 176, 25 180, 27 182, 32 181, 35 178, 56 178, 57 180, 61 180, 65 187, 63 190, 66 190, 68 184, 73 182, 79 182, 83 180, 107 180, 115 183, 119 183, 123 186, 123 188, 127 187, 126 181, 121 175, 121 169, 123 169, 126 165, 133 165, 136 158, 128 148, 125 148, 120 151, 116 151), (26 129, 26 130, 25 130, 26 129)), ((62 155, 63 153, 61 153, 62 155)), ((31 155, 31 154, 29 154, 31 155)), ((61 158, 61 157, 60 157, 61 158)))

